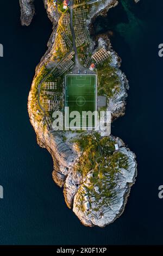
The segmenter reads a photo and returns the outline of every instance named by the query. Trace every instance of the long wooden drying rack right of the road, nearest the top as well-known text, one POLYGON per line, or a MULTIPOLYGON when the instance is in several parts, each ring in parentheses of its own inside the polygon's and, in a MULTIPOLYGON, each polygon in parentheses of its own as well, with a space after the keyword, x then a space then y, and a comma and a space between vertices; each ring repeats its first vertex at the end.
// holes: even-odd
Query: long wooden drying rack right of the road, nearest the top
POLYGON ((74 9, 74 32, 76 34, 76 46, 79 47, 83 44, 89 44, 89 32, 86 28, 87 9, 76 8, 74 9))

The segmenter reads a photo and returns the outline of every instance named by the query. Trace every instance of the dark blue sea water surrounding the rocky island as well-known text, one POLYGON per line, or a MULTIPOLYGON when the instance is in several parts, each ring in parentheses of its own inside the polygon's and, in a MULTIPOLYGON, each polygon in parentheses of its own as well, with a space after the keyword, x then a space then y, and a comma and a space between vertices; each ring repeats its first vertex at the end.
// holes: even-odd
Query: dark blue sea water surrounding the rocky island
POLYGON ((27 112, 35 66, 47 47, 51 22, 41 0, 30 27, 21 27, 17 1, 1 1, 0 43, 0 244, 131 245, 163 243, 162 0, 121 0, 94 23, 96 34, 112 31, 130 90, 126 115, 112 126, 137 156, 138 176, 123 215, 108 227, 87 228, 64 202, 52 180, 52 159, 36 143, 27 112))

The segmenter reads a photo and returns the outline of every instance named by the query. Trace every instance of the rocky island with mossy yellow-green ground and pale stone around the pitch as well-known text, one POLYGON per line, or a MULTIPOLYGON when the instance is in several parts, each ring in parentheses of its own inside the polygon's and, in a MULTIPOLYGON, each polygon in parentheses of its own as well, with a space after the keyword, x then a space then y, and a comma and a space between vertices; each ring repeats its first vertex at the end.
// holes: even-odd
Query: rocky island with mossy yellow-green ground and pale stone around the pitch
MULTIPOLYGON (((72 82, 79 75, 84 83, 86 76, 90 81, 97 79, 94 105, 98 111, 109 111, 112 121, 124 115, 129 85, 120 70, 121 59, 107 36, 97 41, 90 36, 92 20, 116 7, 118 1, 43 2, 53 32, 29 93, 30 121, 37 143, 52 155, 53 180, 64 188, 68 208, 84 225, 105 227, 120 217, 127 203, 137 175, 135 154, 122 139, 102 130, 55 130, 53 113, 64 113, 65 105, 70 104, 66 77, 72 82)), ((22 25, 28 26, 34 16, 34 1, 20 0, 20 6, 22 25)), ((79 106, 84 105, 81 102, 77 102, 79 106)))

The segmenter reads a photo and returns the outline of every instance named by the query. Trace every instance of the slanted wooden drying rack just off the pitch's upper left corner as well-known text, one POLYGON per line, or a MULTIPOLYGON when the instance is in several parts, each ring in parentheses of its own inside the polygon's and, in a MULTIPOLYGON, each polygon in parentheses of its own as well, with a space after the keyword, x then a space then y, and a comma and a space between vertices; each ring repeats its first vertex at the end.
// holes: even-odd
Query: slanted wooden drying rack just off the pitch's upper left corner
POLYGON ((68 56, 61 60, 60 64, 57 66, 57 68, 54 70, 54 74, 56 76, 61 76, 64 74, 68 69, 72 68, 74 62, 72 61, 72 58, 74 57, 74 51, 72 51, 68 56))

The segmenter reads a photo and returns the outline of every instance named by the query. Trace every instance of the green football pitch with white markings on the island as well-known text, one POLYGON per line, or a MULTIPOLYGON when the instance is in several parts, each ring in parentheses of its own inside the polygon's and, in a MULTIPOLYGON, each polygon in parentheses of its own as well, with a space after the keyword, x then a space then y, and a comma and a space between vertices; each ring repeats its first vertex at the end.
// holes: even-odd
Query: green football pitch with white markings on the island
MULTIPOLYGON (((82 125, 82 112, 96 110, 96 75, 66 75, 65 107, 69 113, 78 111, 80 120, 76 126, 82 125)), ((72 118, 73 119, 73 118, 72 118)), ((71 118, 69 118, 69 123, 71 118)), ((86 120, 87 127, 88 121, 86 120)), ((93 120, 94 126, 95 120, 93 120)))

